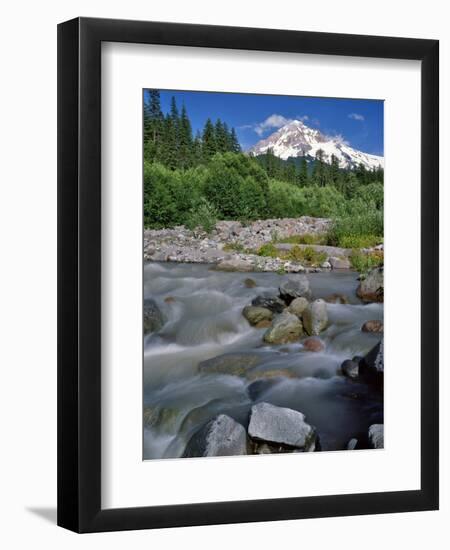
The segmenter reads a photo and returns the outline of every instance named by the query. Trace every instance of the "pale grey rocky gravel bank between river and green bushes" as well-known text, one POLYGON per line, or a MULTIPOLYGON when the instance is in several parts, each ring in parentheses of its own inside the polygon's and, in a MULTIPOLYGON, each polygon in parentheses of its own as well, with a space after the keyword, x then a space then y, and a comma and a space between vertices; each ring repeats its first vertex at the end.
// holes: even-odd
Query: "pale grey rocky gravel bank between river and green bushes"
MULTIPOLYGON (((206 233, 184 226, 144 231, 144 260, 159 262, 209 263, 223 271, 282 271, 286 273, 320 272, 327 269, 350 269, 351 249, 323 245, 278 243, 293 236, 321 236, 330 227, 324 218, 284 218, 255 221, 243 225, 235 221, 218 222, 206 233), (276 243, 279 257, 258 255, 261 246, 276 243), (282 258, 294 246, 313 249, 323 258, 318 265, 304 265, 282 258)), ((382 248, 383 245, 381 245, 382 248)), ((380 247, 378 247, 380 248, 380 247)), ((367 249, 370 252, 372 249, 367 249)))

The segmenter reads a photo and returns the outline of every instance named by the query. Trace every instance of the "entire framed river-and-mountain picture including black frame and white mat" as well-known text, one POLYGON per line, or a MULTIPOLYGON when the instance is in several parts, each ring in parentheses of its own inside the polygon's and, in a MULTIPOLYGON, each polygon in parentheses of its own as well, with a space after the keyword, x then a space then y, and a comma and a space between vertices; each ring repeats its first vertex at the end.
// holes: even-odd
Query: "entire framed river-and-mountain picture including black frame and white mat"
POLYGON ((438 508, 438 89, 435 40, 59 25, 60 526, 438 508))

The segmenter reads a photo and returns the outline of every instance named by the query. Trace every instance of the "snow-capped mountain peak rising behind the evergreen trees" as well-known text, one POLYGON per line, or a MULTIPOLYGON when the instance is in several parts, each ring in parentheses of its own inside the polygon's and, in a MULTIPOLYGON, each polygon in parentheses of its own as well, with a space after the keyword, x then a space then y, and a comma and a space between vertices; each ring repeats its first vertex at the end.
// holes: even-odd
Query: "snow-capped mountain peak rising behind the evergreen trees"
POLYGON ((248 152, 262 155, 268 149, 272 149, 274 155, 284 160, 302 156, 315 158, 317 151, 321 149, 325 162, 330 163, 331 156, 334 155, 341 168, 353 168, 363 164, 370 170, 384 166, 383 157, 353 149, 340 136, 324 136, 319 130, 310 128, 301 120, 289 122, 266 139, 258 141, 248 152))

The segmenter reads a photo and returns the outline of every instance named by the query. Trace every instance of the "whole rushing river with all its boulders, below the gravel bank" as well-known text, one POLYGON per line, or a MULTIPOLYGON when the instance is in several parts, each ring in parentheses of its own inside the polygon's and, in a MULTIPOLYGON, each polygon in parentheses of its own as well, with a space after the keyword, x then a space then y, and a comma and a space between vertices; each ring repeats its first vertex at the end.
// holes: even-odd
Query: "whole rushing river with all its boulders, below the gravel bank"
POLYGON ((383 447, 383 270, 144 269, 144 457, 383 447))

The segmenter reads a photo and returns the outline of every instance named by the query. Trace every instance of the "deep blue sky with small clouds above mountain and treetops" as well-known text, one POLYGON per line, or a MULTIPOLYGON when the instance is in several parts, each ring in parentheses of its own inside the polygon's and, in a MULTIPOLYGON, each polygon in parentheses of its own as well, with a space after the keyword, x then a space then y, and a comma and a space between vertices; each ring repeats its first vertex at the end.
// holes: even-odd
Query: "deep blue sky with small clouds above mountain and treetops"
POLYGON ((208 117, 234 126, 243 149, 292 119, 302 119, 326 135, 341 135, 352 147, 383 155, 383 101, 216 92, 161 91, 161 108, 171 97, 184 103, 194 133, 208 117))

